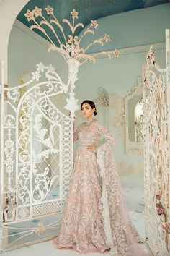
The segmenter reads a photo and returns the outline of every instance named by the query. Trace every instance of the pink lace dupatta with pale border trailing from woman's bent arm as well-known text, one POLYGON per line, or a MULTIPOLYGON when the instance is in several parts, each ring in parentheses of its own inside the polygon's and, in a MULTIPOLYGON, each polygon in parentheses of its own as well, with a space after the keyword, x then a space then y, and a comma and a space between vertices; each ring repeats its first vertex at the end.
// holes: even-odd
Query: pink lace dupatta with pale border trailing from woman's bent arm
POLYGON ((138 244, 139 234, 128 216, 128 209, 122 196, 120 180, 112 154, 115 139, 103 124, 97 125, 100 135, 106 142, 97 148, 97 163, 102 177, 102 215, 106 244, 111 255, 144 256, 148 255, 138 244))

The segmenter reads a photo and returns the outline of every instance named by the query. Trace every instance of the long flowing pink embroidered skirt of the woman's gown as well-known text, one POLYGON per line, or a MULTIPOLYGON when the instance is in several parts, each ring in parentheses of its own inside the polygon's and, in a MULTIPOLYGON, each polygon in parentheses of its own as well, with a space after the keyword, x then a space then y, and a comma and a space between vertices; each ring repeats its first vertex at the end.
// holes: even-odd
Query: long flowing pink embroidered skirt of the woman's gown
POLYGON ((76 154, 61 234, 55 239, 58 249, 78 252, 104 252, 104 220, 102 217, 102 179, 97 155, 89 151, 76 154))

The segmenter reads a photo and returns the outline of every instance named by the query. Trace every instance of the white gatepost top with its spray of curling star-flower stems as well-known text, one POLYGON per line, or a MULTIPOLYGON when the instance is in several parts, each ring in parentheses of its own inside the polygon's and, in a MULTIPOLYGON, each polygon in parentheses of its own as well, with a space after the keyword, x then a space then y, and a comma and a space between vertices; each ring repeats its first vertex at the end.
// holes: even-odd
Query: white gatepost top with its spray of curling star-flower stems
POLYGON ((71 12, 72 23, 67 19, 63 19, 63 24, 68 25, 71 30, 71 34, 66 35, 66 33, 64 33, 63 26, 55 17, 53 8, 48 5, 45 8, 45 12, 47 12, 48 16, 50 16, 50 21, 45 18, 45 16, 42 14, 42 9, 38 7, 35 7, 35 9, 32 11, 27 9, 27 13, 25 13, 24 16, 27 17, 29 22, 32 20, 35 23, 34 25, 30 26, 31 30, 40 30, 41 33, 48 38, 51 43, 48 51, 58 51, 58 53, 63 56, 68 64, 68 82, 65 88, 66 91, 68 91, 68 88, 70 88, 70 93, 68 93, 69 98, 66 99, 67 104, 65 108, 68 111, 71 111, 71 117, 73 118, 75 116, 74 112, 79 109, 79 105, 77 103, 78 100, 75 99, 75 93, 73 92, 73 90, 76 88, 75 82, 78 80, 77 73, 79 71, 79 66, 84 64, 86 61, 92 61, 94 63, 96 61, 96 57, 99 55, 105 55, 109 59, 112 56, 118 57, 120 52, 115 49, 115 51, 112 52, 101 51, 99 53, 89 54, 89 48, 91 48, 91 46, 94 46, 95 44, 104 46, 104 43, 110 41, 110 37, 107 34, 105 34, 103 38, 93 40, 88 46, 86 46, 86 48, 81 47, 81 40, 86 34, 91 33, 94 35, 94 30, 99 26, 97 20, 91 20, 91 23, 86 27, 83 33, 77 36, 77 29, 79 27, 84 28, 84 25, 83 23, 76 22, 76 20, 78 20, 79 12, 76 12, 76 10, 73 9, 71 12), (49 33, 49 29, 51 33, 49 33), (57 31, 60 33, 57 33, 57 31))

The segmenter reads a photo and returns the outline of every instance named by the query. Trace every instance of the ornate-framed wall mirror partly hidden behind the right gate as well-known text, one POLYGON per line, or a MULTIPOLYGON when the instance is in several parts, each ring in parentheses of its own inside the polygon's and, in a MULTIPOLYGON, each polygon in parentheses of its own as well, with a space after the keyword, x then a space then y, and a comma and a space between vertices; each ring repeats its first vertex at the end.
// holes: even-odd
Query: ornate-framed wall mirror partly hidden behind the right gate
POLYGON ((143 150, 143 93, 142 80, 125 97, 125 151, 143 150))

